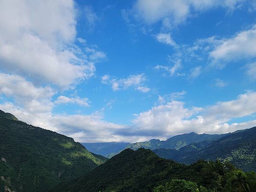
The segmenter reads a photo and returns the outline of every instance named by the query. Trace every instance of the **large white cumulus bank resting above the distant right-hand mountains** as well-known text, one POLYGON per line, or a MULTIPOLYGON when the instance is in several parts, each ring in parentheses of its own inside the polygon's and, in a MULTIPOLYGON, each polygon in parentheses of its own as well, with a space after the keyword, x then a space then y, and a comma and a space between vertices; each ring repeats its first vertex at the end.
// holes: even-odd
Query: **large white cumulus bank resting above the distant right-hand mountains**
POLYGON ((124 135, 170 137, 195 131, 197 133, 227 133, 255 126, 256 120, 228 123, 234 118, 256 113, 256 92, 247 92, 237 99, 218 102, 206 108, 186 108, 181 101, 171 101, 136 114, 131 128, 119 131, 124 135))

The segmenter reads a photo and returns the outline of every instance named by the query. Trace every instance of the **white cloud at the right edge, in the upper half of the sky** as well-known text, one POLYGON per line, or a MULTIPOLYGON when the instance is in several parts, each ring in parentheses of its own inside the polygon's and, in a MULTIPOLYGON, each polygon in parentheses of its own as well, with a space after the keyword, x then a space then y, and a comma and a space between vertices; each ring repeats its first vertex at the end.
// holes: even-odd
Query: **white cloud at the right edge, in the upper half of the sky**
POLYGON ((210 52, 212 64, 223 67, 229 61, 256 57, 256 25, 251 29, 239 32, 232 38, 221 39, 210 52))

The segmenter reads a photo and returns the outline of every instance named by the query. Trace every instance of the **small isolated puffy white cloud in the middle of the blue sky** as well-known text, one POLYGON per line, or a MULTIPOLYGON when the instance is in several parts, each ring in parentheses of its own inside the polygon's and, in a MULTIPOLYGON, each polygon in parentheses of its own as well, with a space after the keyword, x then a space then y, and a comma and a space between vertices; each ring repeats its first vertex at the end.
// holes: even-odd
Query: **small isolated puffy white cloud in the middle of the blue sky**
POLYGON ((139 90, 143 93, 147 93, 150 91, 150 88, 144 85, 146 81, 146 77, 144 73, 139 75, 130 75, 128 78, 124 79, 116 79, 112 78, 109 75, 102 76, 102 83, 103 84, 110 84, 112 90, 125 90, 129 87, 134 87, 135 90, 139 90))

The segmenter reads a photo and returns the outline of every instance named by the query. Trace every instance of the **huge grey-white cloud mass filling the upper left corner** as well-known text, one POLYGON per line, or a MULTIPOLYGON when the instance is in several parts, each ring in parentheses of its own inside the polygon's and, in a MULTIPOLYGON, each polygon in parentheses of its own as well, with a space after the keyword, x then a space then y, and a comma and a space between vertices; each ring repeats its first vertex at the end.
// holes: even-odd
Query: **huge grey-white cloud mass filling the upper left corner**
MULTIPOLYGON (((87 61, 86 55, 73 45, 76 40, 73 0, 1 1, 0 18, 2 70, 61 88, 93 76, 94 63, 87 61)), ((103 54, 91 57, 95 60, 103 54)))

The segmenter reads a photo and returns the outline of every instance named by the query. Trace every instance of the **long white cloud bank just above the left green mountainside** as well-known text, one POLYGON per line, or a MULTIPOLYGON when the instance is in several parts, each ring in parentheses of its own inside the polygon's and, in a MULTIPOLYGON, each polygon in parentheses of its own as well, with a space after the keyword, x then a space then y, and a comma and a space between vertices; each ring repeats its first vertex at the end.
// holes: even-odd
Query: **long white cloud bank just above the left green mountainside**
MULTIPOLYGON (((0 73, 0 96, 12 98, 13 102, 6 102, 0 97, 0 109, 17 116, 18 119, 46 128, 67 136, 76 136, 79 141, 116 141, 122 136, 113 133, 116 129, 122 129, 124 125, 118 125, 103 120, 102 111, 89 115, 66 115, 53 113, 56 105, 71 103, 88 107, 87 98, 58 96, 52 101, 52 96, 57 92, 51 87, 35 87, 31 82, 21 76, 0 73), (80 134, 82 133, 82 134, 80 134), (80 136, 79 136, 80 135, 80 136)), ((123 140, 128 140, 122 137, 123 140)))

